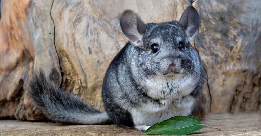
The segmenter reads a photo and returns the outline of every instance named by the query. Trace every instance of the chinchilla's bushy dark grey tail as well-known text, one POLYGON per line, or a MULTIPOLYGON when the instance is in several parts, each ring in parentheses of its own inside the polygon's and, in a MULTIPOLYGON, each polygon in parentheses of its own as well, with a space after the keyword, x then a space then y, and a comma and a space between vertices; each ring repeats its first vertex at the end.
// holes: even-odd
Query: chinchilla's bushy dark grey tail
POLYGON ((30 87, 33 106, 52 121, 86 125, 111 121, 105 111, 92 108, 71 92, 64 92, 49 82, 43 70, 32 78, 30 87))

